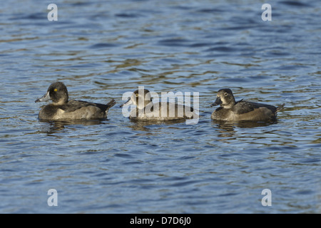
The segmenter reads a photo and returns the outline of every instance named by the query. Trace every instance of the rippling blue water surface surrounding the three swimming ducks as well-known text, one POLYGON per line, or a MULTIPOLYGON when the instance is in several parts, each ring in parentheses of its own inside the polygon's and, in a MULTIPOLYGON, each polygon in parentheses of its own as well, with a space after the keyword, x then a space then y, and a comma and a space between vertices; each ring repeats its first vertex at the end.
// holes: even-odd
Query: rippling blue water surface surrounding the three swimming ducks
POLYGON ((320 2, 272 1, 272 21, 250 0, 55 1, 58 21, 50 3, 1 3, 1 213, 321 212, 320 2), (34 100, 54 81, 117 104, 101 122, 41 122, 34 100), (199 92, 199 123, 124 118, 138 86, 199 92), (285 109, 277 123, 215 123, 226 87, 285 109))

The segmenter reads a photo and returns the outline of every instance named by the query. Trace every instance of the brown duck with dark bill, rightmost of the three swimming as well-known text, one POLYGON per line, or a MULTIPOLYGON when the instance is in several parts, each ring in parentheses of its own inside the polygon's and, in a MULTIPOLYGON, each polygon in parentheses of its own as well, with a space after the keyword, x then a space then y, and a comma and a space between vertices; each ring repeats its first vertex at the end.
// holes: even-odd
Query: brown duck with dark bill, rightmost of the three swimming
POLYGON ((220 105, 213 111, 210 118, 212 120, 224 121, 269 121, 276 120, 277 112, 281 110, 285 104, 280 106, 267 105, 263 103, 254 103, 245 100, 235 102, 235 98, 230 88, 218 90, 215 102, 211 107, 220 105))

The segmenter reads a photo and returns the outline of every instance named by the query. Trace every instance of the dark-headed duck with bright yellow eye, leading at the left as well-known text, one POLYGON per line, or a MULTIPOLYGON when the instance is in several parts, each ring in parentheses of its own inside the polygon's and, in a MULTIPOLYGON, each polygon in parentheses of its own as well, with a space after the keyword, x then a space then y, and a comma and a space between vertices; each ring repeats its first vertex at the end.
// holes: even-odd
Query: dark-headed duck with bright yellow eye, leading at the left
POLYGON ((62 82, 52 83, 45 95, 35 100, 36 103, 52 100, 39 112, 40 120, 104 120, 108 110, 116 104, 91 103, 83 100, 68 100, 67 87, 62 82))

